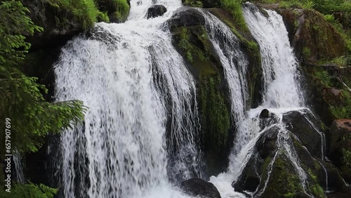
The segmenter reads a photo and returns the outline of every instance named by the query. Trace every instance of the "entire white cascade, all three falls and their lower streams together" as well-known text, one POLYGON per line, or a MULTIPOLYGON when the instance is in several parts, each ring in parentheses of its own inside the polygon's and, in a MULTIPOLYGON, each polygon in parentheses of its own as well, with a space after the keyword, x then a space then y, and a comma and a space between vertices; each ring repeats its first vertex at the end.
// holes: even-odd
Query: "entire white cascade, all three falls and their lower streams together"
MULTIPOLYGON (((60 138, 61 197, 187 197, 174 183, 201 177, 195 81, 165 25, 181 1, 158 3, 168 9, 161 17, 145 18, 152 0, 144 0, 141 6, 132 0, 126 22, 100 22, 88 35, 62 48, 55 65, 55 97, 82 100, 88 112, 83 124, 60 138)), ((298 62, 282 16, 267 11, 266 17, 252 4, 243 9, 260 45, 263 67, 263 101, 253 110, 247 110, 249 62, 239 39, 218 18, 199 9, 224 68, 237 128, 228 170, 212 176, 210 182, 223 198, 244 197, 234 191, 232 182, 240 176, 258 138, 277 127, 277 147, 286 151, 305 190, 307 175, 282 123, 282 114, 305 107, 298 62), (258 114, 263 109, 277 114, 279 123, 261 130, 258 114)), ((325 141, 320 134, 323 157, 325 141)), ((268 179, 278 154, 268 166, 268 179)))

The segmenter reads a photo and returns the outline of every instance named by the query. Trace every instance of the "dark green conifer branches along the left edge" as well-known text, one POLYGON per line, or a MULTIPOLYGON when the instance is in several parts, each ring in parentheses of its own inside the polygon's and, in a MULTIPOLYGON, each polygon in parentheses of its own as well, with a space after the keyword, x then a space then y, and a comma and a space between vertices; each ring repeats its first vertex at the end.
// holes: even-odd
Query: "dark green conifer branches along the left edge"
MULTIPOLYGON (((22 73, 25 54, 30 48, 23 35, 30 36, 35 31, 43 31, 33 24, 27 16, 28 12, 20 1, 2 1, 0 4, 0 120, 11 131, 11 152, 17 150, 20 154, 36 152, 48 133, 71 128, 84 118, 85 111, 78 100, 46 102, 45 86, 38 84, 37 78, 22 73)), ((0 136, 3 143, 4 138, 3 133, 0 136)), ((1 161, 4 161, 4 149, 0 148, 1 161)), ((1 171, 1 178, 2 174, 1 171)), ((1 180, 1 184, 3 182, 1 180)), ((13 190, 11 196, 15 197, 21 197, 20 194, 26 194, 27 197, 53 197, 56 192, 44 185, 31 183, 15 185, 13 190)))

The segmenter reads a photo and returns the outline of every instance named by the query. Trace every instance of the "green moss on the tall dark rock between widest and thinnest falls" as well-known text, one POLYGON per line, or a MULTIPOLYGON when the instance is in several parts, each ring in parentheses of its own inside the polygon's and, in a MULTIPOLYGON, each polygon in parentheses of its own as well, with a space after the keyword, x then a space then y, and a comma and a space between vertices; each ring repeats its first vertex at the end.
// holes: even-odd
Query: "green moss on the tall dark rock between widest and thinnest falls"
POLYGON ((173 32, 178 32, 177 45, 199 74, 199 106, 204 143, 220 150, 227 144, 230 110, 225 103, 225 94, 220 91, 224 79, 211 63, 208 35, 203 26, 180 27, 173 29, 173 32))

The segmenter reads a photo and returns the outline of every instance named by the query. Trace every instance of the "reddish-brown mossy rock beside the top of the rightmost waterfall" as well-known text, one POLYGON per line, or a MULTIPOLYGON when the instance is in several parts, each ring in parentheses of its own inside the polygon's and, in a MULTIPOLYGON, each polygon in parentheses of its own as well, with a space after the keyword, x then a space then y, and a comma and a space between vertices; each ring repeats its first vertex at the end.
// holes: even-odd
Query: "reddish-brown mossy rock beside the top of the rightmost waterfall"
POLYGON ((343 37, 312 9, 279 9, 289 32, 291 46, 303 62, 329 60, 346 53, 343 37))

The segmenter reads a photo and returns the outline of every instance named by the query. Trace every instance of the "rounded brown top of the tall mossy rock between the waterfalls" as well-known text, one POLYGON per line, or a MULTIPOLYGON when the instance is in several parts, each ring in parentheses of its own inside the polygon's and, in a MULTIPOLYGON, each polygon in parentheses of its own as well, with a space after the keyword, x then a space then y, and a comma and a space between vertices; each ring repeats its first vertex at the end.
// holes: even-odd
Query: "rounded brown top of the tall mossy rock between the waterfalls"
POLYGON ((168 25, 173 27, 205 25, 204 16, 197 9, 183 6, 178 8, 168 20, 168 25))

